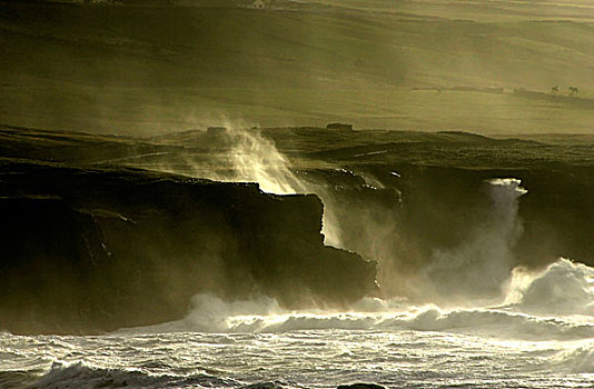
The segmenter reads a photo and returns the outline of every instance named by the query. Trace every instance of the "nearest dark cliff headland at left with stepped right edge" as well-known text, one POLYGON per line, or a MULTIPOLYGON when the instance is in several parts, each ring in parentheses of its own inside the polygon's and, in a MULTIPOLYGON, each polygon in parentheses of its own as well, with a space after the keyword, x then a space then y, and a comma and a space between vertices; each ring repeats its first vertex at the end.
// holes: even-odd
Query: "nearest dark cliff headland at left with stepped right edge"
POLYGON ((175 320, 190 298, 288 308, 375 290, 375 262, 325 247, 315 196, 135 170, 0 167, 0 328, 96 332, 175 320))

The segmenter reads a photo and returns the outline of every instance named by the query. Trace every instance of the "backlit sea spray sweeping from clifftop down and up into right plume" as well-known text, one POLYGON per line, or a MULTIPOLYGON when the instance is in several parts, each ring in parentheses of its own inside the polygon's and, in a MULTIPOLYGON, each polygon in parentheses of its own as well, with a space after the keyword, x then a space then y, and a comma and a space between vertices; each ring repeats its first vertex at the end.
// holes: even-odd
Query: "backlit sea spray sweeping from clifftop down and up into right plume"
MULTIPOLYGON (((403 273, 402 265, 406 260, 398 257, 408 243, 397 228, 398 212, 395 210, 402 206, 399 191, 392 201, 394 209, 374 201, 359 208, 349 206, 349 201, 345 201, 341 193, 333 190, 324 179, 310 180, 296 174, 289 159, 261 131, 249 129, 246 123, 225 122, 225 126, 226 130, 218 134, 218 141, 226 146, 224 152, 215 153, 210 161, 222 169, 202 167, 199 170, 207 171, 207 178, 219 181, 258 182, 263 191, 270 193, 316 193, 324 202, 321 232, 325 243, 353 249, 378 260, 384 297, 405 295, 419 301, 451 301, 454 305, 468 299, 499 298, 501 286, 514 263, 513 248, 522 235, 518 199, 527 191, 518 179, 486 181, 491 208, 483 222, 474 227, 459 246, 434 249, 420 272, 403 273), (348 225, 355 220, 365 228, 359 230, 348 225), (343 223, 350 226, 347 229, 350 233, 345 236, 343 223)), ((339 174, 355 177, 348 170, 340 170, 339 174)), ((359 172, 356 177, 360 177, 369 190, 385 187, 370 173, 359 172)))

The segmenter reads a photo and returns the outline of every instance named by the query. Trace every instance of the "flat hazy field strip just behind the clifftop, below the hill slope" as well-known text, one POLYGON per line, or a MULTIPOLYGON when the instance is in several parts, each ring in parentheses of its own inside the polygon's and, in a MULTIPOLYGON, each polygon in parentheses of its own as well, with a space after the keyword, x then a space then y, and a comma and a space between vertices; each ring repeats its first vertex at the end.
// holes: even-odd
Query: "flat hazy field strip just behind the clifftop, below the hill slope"
POLYGON ((594 110, 513 94, 434 90, 6 88, 2 121, 106 133, 160 133, 208 126, 325 126, 464 130, 477 133, 588 133, 594 110), (38 109, 22 106, 44 101, 38 109), (60 100, 53 100, 61 94, 60 100), (79 107, 76 110, 65 108, 79 107))

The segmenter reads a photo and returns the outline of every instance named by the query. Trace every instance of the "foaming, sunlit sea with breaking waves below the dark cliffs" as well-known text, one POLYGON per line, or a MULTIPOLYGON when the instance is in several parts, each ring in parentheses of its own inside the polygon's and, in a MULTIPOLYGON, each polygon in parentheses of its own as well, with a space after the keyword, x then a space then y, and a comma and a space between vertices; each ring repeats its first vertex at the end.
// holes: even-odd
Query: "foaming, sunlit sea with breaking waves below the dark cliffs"
POLYGON ((594 269, 515 271, 505 301, 367 298, 287 311, 198 295, 179 321, 100 336, 0 333, 1 388, 593 388, 594 269))

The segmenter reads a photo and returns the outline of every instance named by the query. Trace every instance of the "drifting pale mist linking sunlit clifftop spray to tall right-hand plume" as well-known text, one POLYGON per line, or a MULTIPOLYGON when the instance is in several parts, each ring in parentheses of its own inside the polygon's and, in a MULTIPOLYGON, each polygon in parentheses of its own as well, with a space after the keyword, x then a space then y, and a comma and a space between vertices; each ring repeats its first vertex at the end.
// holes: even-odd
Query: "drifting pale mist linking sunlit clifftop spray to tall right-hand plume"
MULTIPOLYGON (((329 177, 295 171, 289 158, 257 127, 248 129, 245 122, 224 122, 226 127, 217 130, 215 140, 225 144, 222 151, 202 164, 188 158, 177 172, 189 171, 219 181, 257 182, 263 192, 274 194, 316 194, 324 205, 325 245, 354 250, 377 261, 384 299, 404 298, 451 308, 509 300, 512 292, 506 288, 509 282, 516 282, 513 279, 522 271, 516 268, 522 259, 516 258, 515 248, 524 232, 518 212, 521 199, 528 193, 519 179, 492 178, 476 187, 458 188, 476 191, 467 198, 478 198, 478 201, 462 202, 467 209, 452 209, 452 217, 457 217, 458 211, 476 217, 464 219, 464 228, 456 231, 455 245, 433 246, 423 253, 420 248, 414 248, 423 245, 420 241, 407 240, 410 237, 404 210, 407 199, 397 187, 386 188, 370 172, 337 167, 334 171, 346 176, 359 189, 353 192, 334 187, 329 177), (412 253, 416 258, 410 258, 412 253)), ((390 171, 389 174, 398 182, 399 173, 390 171)))

